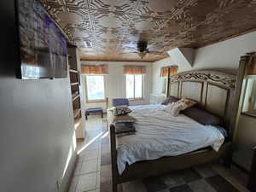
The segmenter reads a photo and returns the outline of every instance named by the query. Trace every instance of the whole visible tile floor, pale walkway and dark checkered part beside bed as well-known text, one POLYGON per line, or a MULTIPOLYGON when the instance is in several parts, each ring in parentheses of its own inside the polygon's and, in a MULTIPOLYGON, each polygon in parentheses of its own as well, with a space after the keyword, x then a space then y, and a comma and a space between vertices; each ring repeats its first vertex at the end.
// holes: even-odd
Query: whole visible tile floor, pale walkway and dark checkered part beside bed
MULTIPOLYGON (((86 129, 86 140, 78 145, 79 161, 69 192, 112 192, 106 121, 100 116, 90 116, 86 129)), ((119 185, 119 192, 248 192, 246 183, 246 175, 236 167, 226 169, 212 164, 123 183, 119 185)))

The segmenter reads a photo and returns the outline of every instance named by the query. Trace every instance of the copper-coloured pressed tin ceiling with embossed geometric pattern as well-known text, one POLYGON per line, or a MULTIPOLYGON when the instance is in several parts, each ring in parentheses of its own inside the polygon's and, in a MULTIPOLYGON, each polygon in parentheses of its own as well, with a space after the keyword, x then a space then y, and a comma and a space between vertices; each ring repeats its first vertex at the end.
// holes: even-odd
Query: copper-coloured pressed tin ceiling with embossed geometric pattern
POLYGON ((41 0, 84 61, 159 61, 256 27, 256 0, 41 0), (132 52, 148 41, 143 60, 132 52))

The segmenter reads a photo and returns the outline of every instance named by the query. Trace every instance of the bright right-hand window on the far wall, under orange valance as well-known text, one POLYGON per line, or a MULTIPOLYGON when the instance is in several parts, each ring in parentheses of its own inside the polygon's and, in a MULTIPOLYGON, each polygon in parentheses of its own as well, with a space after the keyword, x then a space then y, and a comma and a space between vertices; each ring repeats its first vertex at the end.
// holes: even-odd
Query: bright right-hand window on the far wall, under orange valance
POLYGON ((143 75, 126 75, 126 97, 143 99, 143 75))

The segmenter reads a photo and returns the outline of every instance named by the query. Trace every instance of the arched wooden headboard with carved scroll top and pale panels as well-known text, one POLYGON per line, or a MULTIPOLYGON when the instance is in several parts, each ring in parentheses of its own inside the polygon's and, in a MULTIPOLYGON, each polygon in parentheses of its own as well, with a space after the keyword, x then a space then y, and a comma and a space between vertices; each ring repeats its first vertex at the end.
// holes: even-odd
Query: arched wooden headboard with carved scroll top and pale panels
POLYGON ((169 96, 190 98, 224 119, 230 130, 236 76, 215 71, 189 71, 170 78, 169 96))

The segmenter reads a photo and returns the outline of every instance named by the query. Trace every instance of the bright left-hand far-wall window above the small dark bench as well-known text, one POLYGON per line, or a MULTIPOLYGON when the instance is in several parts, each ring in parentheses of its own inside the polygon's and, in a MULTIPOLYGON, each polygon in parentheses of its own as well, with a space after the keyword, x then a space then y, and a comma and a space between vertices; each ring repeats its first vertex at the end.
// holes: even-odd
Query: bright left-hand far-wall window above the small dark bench
POLYGON ((104 102, 105 86, 103 75, 87 75, 86 76, 86 93, 87 102, 104 102))

